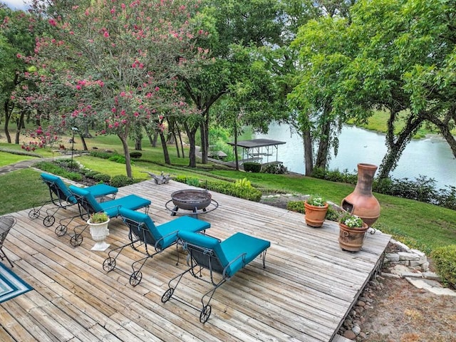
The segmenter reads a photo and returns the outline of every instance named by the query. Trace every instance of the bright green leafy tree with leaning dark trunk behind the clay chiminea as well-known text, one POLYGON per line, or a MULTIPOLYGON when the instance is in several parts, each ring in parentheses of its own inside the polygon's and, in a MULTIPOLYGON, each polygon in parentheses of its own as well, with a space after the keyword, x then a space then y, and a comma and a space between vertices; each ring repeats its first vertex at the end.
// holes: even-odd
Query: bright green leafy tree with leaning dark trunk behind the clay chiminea
POLYGON ((455 125, 454 4, 359 1, 350 19, 311 21, 295 41, 303 77, 292 98, 301 108, 328 113, 325 120, 338 123, 366 120, 376 108, 389 111, 382 178, 425 122, 434 123, 450 146, 455 142, 448 134, 455 125), (405 127, 395 134, 400 118, 405 127))

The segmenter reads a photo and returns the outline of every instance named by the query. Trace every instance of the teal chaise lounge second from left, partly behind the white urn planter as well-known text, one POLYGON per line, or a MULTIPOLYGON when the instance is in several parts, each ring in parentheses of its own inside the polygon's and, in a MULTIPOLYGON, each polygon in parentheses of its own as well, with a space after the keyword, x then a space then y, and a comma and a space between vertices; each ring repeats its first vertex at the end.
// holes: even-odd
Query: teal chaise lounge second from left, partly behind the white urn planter
MULTIPOLYGON (((119 209, 121 207, 125 207, 131 210, 138 210, 144 209, 147 213, 149 211, 150 200, 145 199, 136 195, 128 195, 116 199, 112 199, 107 202, 97 202, 95 196, 86 188, 82 187, 75 187, 74 185, 70 185, 68 187, 70 190, 71 195, 73 195, 76 200, 78 201, 78 207, 80 216, 82 219, 88 219, 90 214, 94 212, 105 212, 108 214, 108 217, 118 217, 119 216, 119 209)), ((82 224, 74 228, 75 234, 71 237, 71 244, 73 246, 79 246, 83 242, 82 233, 88 227, 88 224, 82 224), (77 233, 76 228, 83 227, 81 232, 77 233)), ((66 229, 65 229, 66 230, 66 229)))

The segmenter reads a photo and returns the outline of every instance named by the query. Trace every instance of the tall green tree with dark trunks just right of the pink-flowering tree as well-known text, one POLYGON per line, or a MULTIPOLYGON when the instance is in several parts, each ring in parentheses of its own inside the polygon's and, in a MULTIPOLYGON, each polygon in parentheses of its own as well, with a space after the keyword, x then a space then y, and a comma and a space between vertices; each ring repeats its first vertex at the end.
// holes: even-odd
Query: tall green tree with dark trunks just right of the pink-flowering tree
MULTIPOLYGON (((200 114, 199 118, 194 117, 186 123, 190 140, 190 166, 196 165, 195 149, 192 145, 198 128, 202 137, 202 162, 207 162, 212 106, 222 98, 229 97, 231 102, 235 101, 237 90, 242 87, 242 83, 248 80, 259 81, 258 75, 264 76, 262 83, 273 82, 271 73, 261 72, 254 75, 254 71, 264 60, 262 52, 279 43, 283 25, 281 18, 280 1, 276 0, 204 1, 201 19, 204 28, 209 32, 204 48, 210 51, 213 63, 202 68, 199 73, 193 73, 191 77, 181 76, 183 93, 187 100, 195 104, 200 114), (247 53, 251 55, 244 58, 247 53)), ((267 64, 262 64, 262 67, 270 68, 267 64)), ((249 92, 249 95, 243 95, 244 113, 251 107, 249 101, 260 100, 261 95, 255 93, 257 89, 259 85, 243 88, 243 93, 249 92)), ((270 120, 271 112, 264 113, 261 122, 267 123, 270 120)))

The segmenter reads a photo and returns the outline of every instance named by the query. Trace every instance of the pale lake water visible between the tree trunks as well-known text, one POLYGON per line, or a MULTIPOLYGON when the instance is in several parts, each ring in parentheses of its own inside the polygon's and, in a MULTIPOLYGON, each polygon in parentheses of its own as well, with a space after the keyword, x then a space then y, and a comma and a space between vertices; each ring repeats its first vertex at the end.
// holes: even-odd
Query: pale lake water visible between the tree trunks
MULTIPOLYGON (((255 133, 252 139, 256 138, 285 141, 285 145, 279 145, 278 160, 284 162, 289 171, 304 174, 303 142, 299 135, 291 133, 288 125, 271 125, 268 134, 255 133)), ((384 134, 344 126, 339 136, 338 155, 331 155, 329 169, 356 173, 359 162, 380 166, 386 150, 384 134)), ((410 141, 400 157, 398 167, 390 174, 394 178, 410 180, 420 175, 433 178, 437 188, 456 186, 456 159, 442 138, 410 141)))

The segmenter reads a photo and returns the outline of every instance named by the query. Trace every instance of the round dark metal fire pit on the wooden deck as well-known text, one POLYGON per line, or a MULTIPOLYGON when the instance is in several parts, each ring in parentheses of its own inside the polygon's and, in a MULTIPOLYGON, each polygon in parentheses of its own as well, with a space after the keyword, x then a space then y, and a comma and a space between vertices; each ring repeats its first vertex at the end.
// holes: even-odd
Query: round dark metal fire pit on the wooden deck
POLYGON ((191 210, 198 217, 198 214, 211 212, 219 204, 212 199, 212 195, 207 190, 179 190, 171 194, 171 199, 165 204, 166 209, 170 210, 171 216, 175 216, 179 209, 191 210), (172 202, 173 209, 168 205, 172 202), (209 207, 209 209, 207 209, 209 207))

